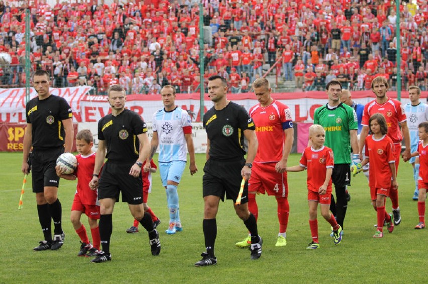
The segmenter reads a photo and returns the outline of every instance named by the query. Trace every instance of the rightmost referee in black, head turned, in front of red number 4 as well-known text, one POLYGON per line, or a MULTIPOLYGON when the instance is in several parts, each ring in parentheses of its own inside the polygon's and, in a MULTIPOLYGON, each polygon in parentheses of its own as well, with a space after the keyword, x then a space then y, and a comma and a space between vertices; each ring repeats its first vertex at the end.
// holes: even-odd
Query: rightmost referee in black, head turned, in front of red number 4
MULTIPOLYGON (((253 120, 240 105, 226 99, 228 85, 221 76, 208 79, 209 98, 214 103, 203 118, 207 134, 206 164, 203 176, 203 235, 206 252, 195 266, 217 263, 214 243, 217 235, 216 214, 220 199, 232 199, 235 203, 242 177, 248 181, 257 152, 257 137, 253 120), (247 160, 244 159, 244 136, 248 140, 247 160)), ((235 212, 244 221, 251 234, 251 259, 262 254, 262 238, 257 233, 256 218, 248 210, 248 182, 245 183, 241 204, 234 205, 235 212)))

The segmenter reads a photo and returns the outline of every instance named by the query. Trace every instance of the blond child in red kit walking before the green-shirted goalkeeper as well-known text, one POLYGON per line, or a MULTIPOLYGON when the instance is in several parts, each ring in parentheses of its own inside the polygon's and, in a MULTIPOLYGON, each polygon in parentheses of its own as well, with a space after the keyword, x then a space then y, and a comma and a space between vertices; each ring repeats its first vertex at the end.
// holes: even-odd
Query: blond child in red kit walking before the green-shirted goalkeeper
POLYGON ((307 169, 307 199, 309 202, 309 226, 312 242, 307 249, 319 248, 318 240, 318 203, 321 215, 330 223, 333 230, 334 244, 342 241, 342 227, 330 213, 332 196, 332 173, 334 168, 333 150, 324 146, 325 131, 323 126, 314 124, 309 127, 309 140, 312 146, 302 154, 299 166, 287 167, 287 172, 301 172, 307 169))

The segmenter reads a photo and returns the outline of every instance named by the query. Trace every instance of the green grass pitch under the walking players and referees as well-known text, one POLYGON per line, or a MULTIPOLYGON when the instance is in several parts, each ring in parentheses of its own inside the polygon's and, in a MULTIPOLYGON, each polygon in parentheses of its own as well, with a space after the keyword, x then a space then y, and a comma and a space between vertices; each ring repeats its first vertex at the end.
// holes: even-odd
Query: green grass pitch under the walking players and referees
MULTIPOLYGON (((290 156, 288 165, 298 164, 300 155, 290 156)), ((204 154, 197 154, 199 172, 191 176, 188 168, 178 187, 183 232, 167 235, 168 209, 159 173, 153 175, 148 204, 162 220, 160 256, 150 253, 147 233, 127 234, 132 217, 126 204, 120 202, 113 214, 111 239, 112 261, 90 263, 78 257, 79 238, 69 221, 75 182, 61 180, 59 198, 63 206, 64 246, 58 251, 33 251, 43 235, 37 218, 31 179, 27 182, 23 209, 18 210, 23 175, 21 153, 0 153, 0 283, 403 283, 425 282, 428 230, 415 230, 418 223, 417 202, 411 165, 401 162, 398 183, 402 223, 392 234, 386 230, 383 239, 374 239, 376 213, 370 204, 366 178, 359 174, 349 188, 351 202, 345 220, 343 241, 333 244, 330 225, 318 214, 320 248, 306 250, 311 241, 308 224, 306 172, 289 173, 290 218, 287 246, 275 247, 278 233, 276 201, 260 195, 259 234, 263 237, 263 254, 250 260, 247 249, 235 247, 247 234, 235 215, 232 201, 220 204, 217 215, 218 234, 213 267, 196 268, 193 264, 204 251, 202 232, 202 175, 204 154)), ((157 157, 155 157, 157 161, 157 157)), ((387 211, 391 202, 387 201, 387 211)), ((86 228, 87 218, 82 216, 86 228)), ((90 234, 90 230, 88 229, 90 234)))

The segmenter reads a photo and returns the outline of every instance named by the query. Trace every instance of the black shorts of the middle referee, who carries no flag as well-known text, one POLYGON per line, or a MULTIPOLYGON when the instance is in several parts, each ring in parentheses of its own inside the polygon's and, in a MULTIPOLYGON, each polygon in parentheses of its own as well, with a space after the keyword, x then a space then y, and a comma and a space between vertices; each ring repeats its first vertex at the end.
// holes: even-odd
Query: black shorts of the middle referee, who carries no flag
POLYGON ((112 198, 119 201, 122 192, 122 202, 128 204, 143 203, 143 181, 141 173, 137 178, 129 174, 132 164, 118 164, 107 161, 102 168, 98 186, 98 198, 112 198))

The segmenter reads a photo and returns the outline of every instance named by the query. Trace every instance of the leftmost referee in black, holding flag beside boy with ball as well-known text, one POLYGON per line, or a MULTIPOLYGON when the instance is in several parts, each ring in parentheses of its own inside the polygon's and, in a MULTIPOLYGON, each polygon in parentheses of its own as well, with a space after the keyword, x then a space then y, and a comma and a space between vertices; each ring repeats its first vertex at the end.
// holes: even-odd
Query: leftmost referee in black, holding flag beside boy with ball
POLYGON ((50 84, 48 72, 34 72, 33 86, 37 97, 31 99, 25 107, 27 128, 21 171, 24 174, 29 171, 27 161, 33 146, 33 192, 36 193, 37 213, 45 237, 34 250, 59 249, 65 237, 61 224, 62 206, 58 199, 59 177, 55 172, 55 164, 64 150, 71 151, 74 138, 73 113, 64 98, 49 93, 50 84), (55 227, 53 239, 51 219, 55 227))

